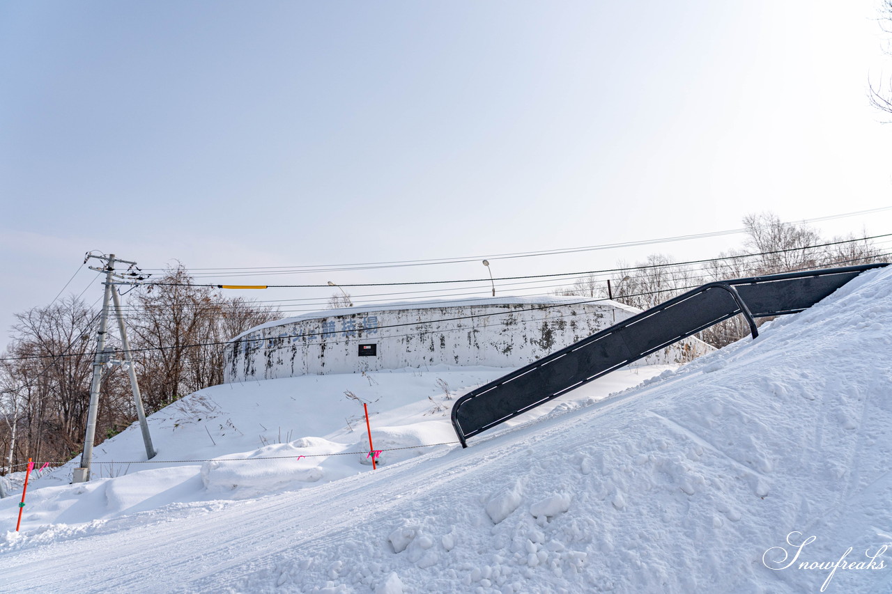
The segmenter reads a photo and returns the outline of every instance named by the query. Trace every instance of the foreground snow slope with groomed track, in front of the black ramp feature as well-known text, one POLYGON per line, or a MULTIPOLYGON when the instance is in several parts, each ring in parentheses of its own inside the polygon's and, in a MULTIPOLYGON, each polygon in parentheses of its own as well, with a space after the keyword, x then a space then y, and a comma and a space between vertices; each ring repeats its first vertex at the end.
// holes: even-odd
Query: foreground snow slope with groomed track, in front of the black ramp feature
POLYGON ((890 329, 892 270, 865 273, 467 450, 7 534, 0 591, 892 591, 890 329))

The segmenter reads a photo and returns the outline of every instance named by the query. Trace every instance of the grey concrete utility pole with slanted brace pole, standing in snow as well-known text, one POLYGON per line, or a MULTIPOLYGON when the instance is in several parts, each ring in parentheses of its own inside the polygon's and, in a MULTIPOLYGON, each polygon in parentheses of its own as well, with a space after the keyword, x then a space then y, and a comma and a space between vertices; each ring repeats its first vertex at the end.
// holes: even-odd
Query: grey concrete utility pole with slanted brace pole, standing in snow
MULTIPOLYGON (((133 359, 130 356, 130 346, 127 340, 127 332, 124 328, 124 318, 120 308, 120 298, 118 297, 117 289, 115 289, 115 284, 112 280, 112 277, 115 276, 121 279, 124 278, 123 276, 115 274, 115 262, 130 264, 131 266, 136 266, 136 262, 116 259, 113 253, 108 256, 87 254, 87 258, 84 261, 86 262, 91 258, 105 261, 105 266, 103 268, 89 267, 91 270, 105 273, 105 293, 103 295, 102 316, 99 318, 99 331, 96 334, 96 353, 93 358, 93 382, 90 384, 90 405, 89 408, 87 408, 87 434, 84 437, 84 453, 81 454, 80 457, 80 466, 74 469, 74 483, 86 483, 90 480, 90 464, 93 460, 93 442, 95 441, 96 434, 96 415, 99 411, 99 389, 103 379, 103 367, 110 362, 109 352, 105 350, 105 339, 108 333, 109 309, 111 309, 110 298, 112 295, 114 296, 115 311, 118 315, 118 328, 120 330, 121 342, 124 347, 125 365, 128 365, 130 387, 133 389, 136 416, 139 418, 139 423, 143 429, 145 455, 149 459, 155 456, 155 450, 152 446, 152 438, 149 436, 149 427, 145 422, 145 412, 143 410, 143 401, 139 394, 139 385, 136 384, 136 369, 133 367, 133 359)), ((120 364, 120 361, 116 361, 116 363, 120 364)))

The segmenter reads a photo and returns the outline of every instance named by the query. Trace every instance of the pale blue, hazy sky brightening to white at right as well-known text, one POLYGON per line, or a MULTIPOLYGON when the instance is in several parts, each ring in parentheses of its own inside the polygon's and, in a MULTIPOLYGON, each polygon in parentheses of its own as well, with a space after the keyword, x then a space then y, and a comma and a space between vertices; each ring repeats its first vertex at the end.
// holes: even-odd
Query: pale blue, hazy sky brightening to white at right
MULTIPOLYGON (((878 4, 0 0, 0 322, 52 301, 88 250, 144 268, 491 257, 892 206, 892 124, 867 97, 892 73, 878 4)), ((892 233, 892 210, 817 227, 892 233)))

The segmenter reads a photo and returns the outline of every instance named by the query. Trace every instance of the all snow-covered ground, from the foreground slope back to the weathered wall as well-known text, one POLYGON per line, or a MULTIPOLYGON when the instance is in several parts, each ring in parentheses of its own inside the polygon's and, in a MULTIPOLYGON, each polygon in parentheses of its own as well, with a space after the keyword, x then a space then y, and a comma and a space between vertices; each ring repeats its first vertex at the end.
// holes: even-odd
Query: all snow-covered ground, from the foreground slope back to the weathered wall
MULTIPOLYGON (((38 479, 0 538, 0 591, 886 593, 890 329, 892 270, 871 271, 755 341, 374 471, 343 392, 373 401, 376 449, 426 445, 454 439, 435 380, 461 393, 501 370, 197 392, 153 432, 162 459, 211 461, 38 479)), ((131 428, 96 459, 141 448, 131 428)), ((17 504, 0 501, 7 525, 17 504)))

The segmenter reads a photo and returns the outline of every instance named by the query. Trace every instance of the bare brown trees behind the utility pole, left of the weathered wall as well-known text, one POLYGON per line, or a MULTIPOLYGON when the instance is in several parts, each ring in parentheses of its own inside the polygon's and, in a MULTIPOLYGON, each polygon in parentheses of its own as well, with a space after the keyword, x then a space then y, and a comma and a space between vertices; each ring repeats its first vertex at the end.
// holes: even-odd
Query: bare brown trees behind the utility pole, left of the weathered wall
MULTIPOLYGON (((169 267, 157 285, 137 286, 124 310, 146 414, 221 384, 223 343, 280 317, 277 309, 195 286, 182 264, 169 267), (213 342, 219 344, 208 344, 213 342)), ((12 342, 2 355, 10 360, 0 361, 5 470, 29 457, 61 461, 82 450, 100 312, 72 295, 15 318, 12 342)), ((110 318, 108 326, 107 343, 120 349, 117 321, 110 318)), ((104 366, 96 442, 135 419, 127 372, 104 366)))

